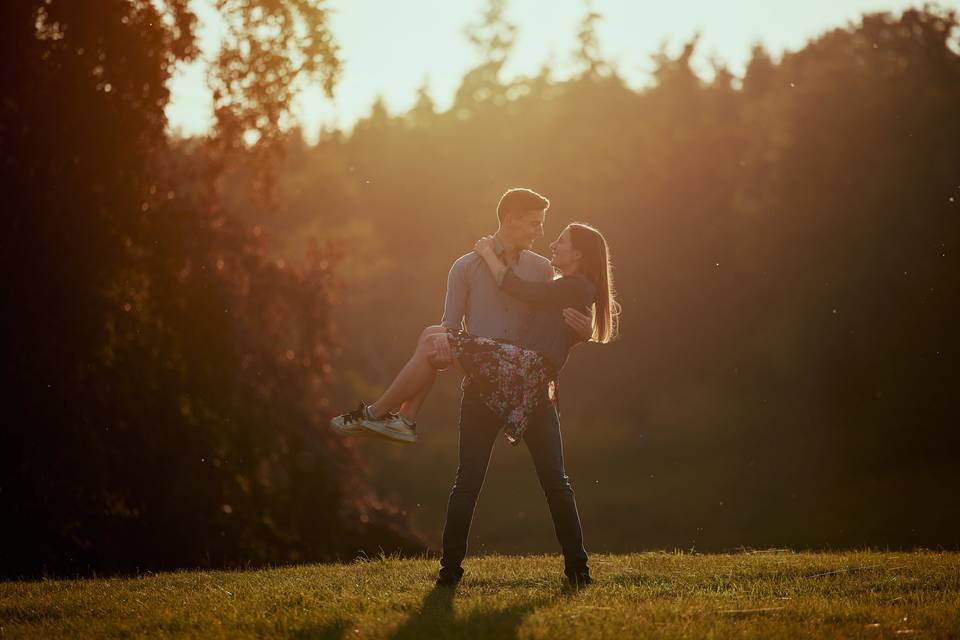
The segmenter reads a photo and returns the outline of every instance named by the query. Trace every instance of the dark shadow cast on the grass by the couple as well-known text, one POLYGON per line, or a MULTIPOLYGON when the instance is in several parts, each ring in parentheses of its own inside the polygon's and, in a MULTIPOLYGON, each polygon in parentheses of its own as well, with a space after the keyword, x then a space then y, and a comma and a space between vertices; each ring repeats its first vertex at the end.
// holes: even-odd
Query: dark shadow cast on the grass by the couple
POLYGON ((530 612, 553 600, 525 600, 502 609, 474 611, 456 617, 453 613, 455 595, 455 589, 434 588, 423 599, 420 610, 397 627, 389 636, 390 640, 513 638, 516 636, 517 627, 530 612))

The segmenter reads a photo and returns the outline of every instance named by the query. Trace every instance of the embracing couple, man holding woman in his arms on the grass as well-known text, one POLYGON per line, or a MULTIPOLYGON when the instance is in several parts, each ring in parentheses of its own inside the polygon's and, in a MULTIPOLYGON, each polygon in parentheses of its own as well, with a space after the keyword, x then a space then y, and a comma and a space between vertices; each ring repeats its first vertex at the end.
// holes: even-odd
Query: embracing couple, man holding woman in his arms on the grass
POLYGON ((616 337, 619 305, 607 242, 595 228, 567 226, 550 244, 549 260, 530 250, 543 236, 549 206, 529 189, 504 193, 496 234, 480 238, 450 269, 440 325, 423 331, 413 356, 376 402, 330 422, 341 435, 414 442, 416 416, 437 371, 453 367, 464 376, 459 466, 443 527, 440 586, 463 577, 470 522, 501 430, 511 444, 522 440, 530 451, 567 579, 574 586, 591 582, 564 469, 557 383, 575 344, 616 337))

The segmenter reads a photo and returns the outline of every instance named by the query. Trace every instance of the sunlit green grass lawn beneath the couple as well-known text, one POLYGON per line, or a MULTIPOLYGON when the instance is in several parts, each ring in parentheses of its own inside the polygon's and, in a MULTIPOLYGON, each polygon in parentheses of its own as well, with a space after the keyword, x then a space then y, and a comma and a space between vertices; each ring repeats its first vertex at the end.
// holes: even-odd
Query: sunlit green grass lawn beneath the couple
POLYGON ((454 591, 435 560, 0 583, 2 638, 960 637, 960 554, 469 558, 454 591))

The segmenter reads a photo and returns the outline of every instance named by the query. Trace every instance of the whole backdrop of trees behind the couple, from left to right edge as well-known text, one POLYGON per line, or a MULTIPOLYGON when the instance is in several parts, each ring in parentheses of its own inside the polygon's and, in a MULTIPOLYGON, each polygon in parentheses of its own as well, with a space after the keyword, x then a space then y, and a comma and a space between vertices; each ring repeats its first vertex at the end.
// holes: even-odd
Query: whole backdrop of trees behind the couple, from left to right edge
POLYGON ((742 78, 698 77, 693 40, 635 90, 593 12, 575 77, 505 80, 491 2, 450 109, 421 91, 310 145, 278 123, 304 74, 335 86, 325 11, 221 9, 217 126, 186 141, 163 115, 197 55, 186 2, 0 10, 4 575, 422 550, 439 521, 360 471, 399 454, 324 425, 436 322, 449 264, 518 185, 551 198, 548 234, 611 241, 623 338, 575 350, 562 385, 572 464, 616 485, 578 486, 602 547, 956 545, 954 12, 758 47, 742 78))

